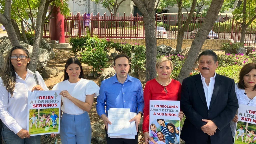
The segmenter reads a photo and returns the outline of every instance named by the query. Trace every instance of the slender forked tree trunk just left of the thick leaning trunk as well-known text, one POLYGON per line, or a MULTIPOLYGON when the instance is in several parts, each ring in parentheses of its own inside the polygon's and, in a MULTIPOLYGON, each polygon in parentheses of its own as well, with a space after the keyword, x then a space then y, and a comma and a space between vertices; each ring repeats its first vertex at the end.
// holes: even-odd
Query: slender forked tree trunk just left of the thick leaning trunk
POLYGON ((179 1, 178 3, 178 8, 179 8, 178 9, 178 36, 177 36, 177 45, 175 50, 176 52, 181 52, 184 32, 185 32, 185 29, 187 29, 192 16, 194 15, 195 7, 196 7, 196 0, 193 0, 187 21, 182 27, 182 1, 179 1))

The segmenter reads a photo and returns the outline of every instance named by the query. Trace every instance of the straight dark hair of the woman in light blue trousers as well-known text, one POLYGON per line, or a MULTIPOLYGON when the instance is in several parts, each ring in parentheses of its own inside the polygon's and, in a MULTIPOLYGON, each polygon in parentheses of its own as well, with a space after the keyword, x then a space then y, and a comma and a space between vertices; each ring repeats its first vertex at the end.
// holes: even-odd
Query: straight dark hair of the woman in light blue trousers
POLYGON ((83 68, 82 68, 81 62, 80 62, 76 57, 70 57, 70 58, 68 58, 68 60, 66 61, 66 64, 65 64, 65 70, 64 70, 64 78, 63 78, 63 81, 69 79, 69 76, 68 76, 68 73, 66 72, 66 70, 67 70, 67 68, 68 68, 68 66, 69 66, 70 64, 77 64, 77 65, 79 65, 79 67, 80 67, 80 69, 81 69, 79 78, 84 78, 84 75, 83 75, 83 68))

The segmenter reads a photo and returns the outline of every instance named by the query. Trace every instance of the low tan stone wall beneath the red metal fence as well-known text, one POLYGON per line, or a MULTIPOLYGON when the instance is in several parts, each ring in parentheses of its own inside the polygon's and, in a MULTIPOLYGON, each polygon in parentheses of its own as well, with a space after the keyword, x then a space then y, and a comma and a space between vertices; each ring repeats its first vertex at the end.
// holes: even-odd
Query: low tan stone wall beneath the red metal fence
MULTIPOLYGON (((116 43, 128 43, 128 44, 140 44, 146 45, 145 39, 117 39, 109 38, 116 43)), ((65 38, 66 43, 69 42, 69 38, 65 38)), ((183 39, 182 49, 190 47, 193 39, 183 39)), ((231 43, 231 39, 206 39, 202 49, 220 49, 222 43, 231 43)), ((156 39, 156 45, 167 45, 172 48, 176 48, 177 39, 156 39)))

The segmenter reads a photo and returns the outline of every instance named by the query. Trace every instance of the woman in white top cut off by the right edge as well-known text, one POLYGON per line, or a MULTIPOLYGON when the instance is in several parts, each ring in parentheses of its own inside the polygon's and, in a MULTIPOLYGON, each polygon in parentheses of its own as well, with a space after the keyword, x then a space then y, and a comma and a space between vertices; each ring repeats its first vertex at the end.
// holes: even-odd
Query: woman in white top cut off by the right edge
MULTIPOLYGON (((238 104, 256 106, 256 63, 249 63, 242 67, 239 81, 235 85, 238 104)), ((237 115, 230 122, 233 138, 236 133, 237 115)))

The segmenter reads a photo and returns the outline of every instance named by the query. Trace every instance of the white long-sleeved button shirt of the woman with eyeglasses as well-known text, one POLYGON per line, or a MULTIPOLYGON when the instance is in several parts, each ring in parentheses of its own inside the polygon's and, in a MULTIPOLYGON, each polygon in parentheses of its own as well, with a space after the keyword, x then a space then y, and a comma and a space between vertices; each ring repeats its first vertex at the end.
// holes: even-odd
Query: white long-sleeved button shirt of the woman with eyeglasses
MULTIPOLYGON (((49 90, 44 79, 37 71, 36 76, 39 85, 44 90, 49 90)), ((32 90, 35 85, 36 81, 33 72, 29 69, 27 69, 25 80, 16 74, 15 89, 13 97, 11 97, 11 94, 3 84, 2 78, 0 78, 0 118, 15 134, 21 129, 27 130, 28 90, 32 90)))

